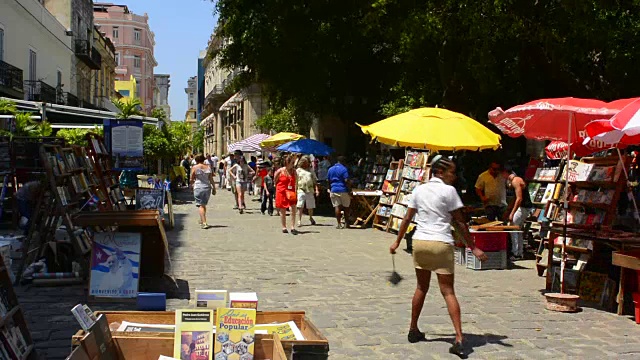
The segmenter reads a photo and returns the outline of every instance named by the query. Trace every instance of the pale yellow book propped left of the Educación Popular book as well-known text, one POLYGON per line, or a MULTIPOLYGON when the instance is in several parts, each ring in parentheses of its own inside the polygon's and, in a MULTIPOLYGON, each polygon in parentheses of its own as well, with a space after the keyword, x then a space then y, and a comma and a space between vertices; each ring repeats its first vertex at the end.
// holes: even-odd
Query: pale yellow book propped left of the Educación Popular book
POLYGON ((212 310, 176 310, 173 357, 180 360, 211 360, 212 310))

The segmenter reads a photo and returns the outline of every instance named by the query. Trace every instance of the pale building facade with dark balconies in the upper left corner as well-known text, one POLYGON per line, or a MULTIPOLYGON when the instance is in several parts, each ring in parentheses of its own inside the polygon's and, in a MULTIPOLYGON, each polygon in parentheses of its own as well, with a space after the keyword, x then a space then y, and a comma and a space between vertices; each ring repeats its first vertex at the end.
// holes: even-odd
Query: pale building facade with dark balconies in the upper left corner
POLYGON ((66 28, 38 0, 6 0, 0 10, 0 96, 64 104, 75 95, 66 28))

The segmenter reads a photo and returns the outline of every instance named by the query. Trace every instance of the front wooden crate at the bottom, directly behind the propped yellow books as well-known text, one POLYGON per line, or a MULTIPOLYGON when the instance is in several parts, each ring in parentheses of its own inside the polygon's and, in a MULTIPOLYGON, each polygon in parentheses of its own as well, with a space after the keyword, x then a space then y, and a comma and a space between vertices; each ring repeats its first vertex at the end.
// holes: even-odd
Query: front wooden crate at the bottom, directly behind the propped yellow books
MULTIPOLYGON (((157 360, 160 355, 173 356, 173 334, 162 334, 156 336, 156 333, 142 333, 142 335, 133 335, 132 333, 123 333, 123 335, 114 335, 113 349, 118 359, 128 360, 157 360)), ((82 359, 82 353, 86 353, 86 347, 90 346, 84 342, 87 334, 79 340, 80 344, 74 350, 71 359, 82 359), (79 354, 76 354, 79 353, 79 354)), ((94 349, 95 350, 95 349, 94 349)), ((213 348, 211 348, 213 350, 213 348)), ((95 352, 95 351, 94 351, 95 352)), ((282 343, 277 336, 274 335, 256 335, 254 347, 255 360, 286 360, 287 355, 282 347, 282 343)))

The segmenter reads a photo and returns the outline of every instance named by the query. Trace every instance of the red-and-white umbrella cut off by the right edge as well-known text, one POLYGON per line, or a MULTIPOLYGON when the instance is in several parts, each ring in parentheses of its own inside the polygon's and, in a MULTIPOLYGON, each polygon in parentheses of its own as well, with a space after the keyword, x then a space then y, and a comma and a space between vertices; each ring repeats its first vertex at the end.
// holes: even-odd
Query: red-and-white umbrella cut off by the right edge
POLYGON ((621 145, 640 144, 640 99, 628 104, 609 120, 595 120, 586 125, 590 138, 621 145))

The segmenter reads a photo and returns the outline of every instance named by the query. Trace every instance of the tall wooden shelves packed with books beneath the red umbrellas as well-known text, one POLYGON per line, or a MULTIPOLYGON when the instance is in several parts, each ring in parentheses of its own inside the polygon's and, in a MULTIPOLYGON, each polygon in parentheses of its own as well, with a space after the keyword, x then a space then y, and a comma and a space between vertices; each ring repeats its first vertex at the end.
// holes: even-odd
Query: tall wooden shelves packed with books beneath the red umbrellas
POLYGON ((537 169, 529 185, 531 199, 538 207, 534 216, 542 230, 536 267, 538 274, 545 276, 546 289, 560 291, 564 254, 564 292, 606 309, 612 309, 617 301, 619 314, 625 303, 627 281, 625 271, 614 267, 620 263, 617 257, 622 256, 615 252, 625 254, 640 247, 635 233, 613 229, 616 204, 621 196, 627 196, 623 167, 629 162, 618 156, 570 160, 566 166, 560 163, 537 169))

